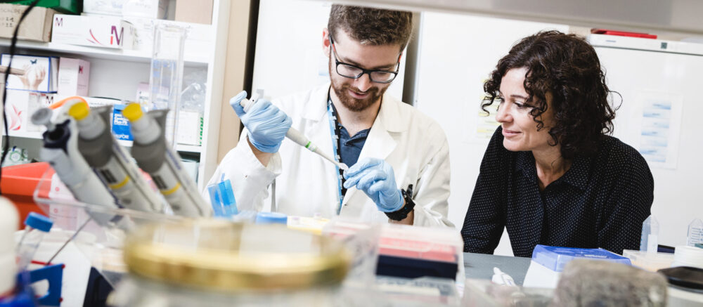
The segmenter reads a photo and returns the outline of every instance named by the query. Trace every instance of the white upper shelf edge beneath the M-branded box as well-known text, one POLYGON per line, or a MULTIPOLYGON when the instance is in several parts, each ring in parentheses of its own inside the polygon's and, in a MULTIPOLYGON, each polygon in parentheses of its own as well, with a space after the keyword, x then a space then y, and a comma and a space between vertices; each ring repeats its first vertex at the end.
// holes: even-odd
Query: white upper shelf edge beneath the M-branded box
MULTIPOLYGON (((10 39, 0 39, 0 46, 9 47, 10 39)), ((150 63, 151 53, 148 51, 123 50, 112 48, 98 48, 89 46, 77 46, 58 43, 41 43, 39 41, 17 41, 18 48, 51 51, 51 53, 70 53, 86 58, 98 58, 104 60, 121 60, 129 62, 150 63)), ((207 58, 191 57, 186 58, 186 66, 207 66, 207 58)))

